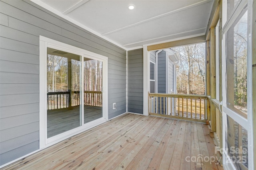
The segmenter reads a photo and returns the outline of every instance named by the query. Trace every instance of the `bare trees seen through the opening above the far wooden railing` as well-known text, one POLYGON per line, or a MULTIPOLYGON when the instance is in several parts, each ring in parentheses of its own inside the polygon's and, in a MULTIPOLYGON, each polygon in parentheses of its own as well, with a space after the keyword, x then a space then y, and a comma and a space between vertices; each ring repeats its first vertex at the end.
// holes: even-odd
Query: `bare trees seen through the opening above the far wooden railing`
POLYGON ((173 48, 180 56, 177 90, 181 94, 205 94, 205 44, 173 48))

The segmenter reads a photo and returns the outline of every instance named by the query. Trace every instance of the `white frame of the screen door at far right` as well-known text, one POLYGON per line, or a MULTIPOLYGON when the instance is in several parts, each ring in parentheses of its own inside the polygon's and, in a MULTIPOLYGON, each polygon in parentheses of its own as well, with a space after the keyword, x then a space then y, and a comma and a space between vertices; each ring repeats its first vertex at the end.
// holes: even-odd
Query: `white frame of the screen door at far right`
MULTIPOLYGON (((252 67, 248 64, 247 70, 247 119, 241 116, 240 114, 234 112, 233 110, 227 107, 227 100, 226 100, 226 33, 228 32, 229 28, 232 26, 240 12, 244 9, 247 4, 248 9, 248 40, 247 40, 247 63, 252 63, 252 37, 250 36, 251 32, 251 22, 252 22, 252 1, 251 0, 242 0, 236 4, 234 10, 232 11, 232 16, 227 18, 227 0, 224 0, 222 3, 222 142, 223 147, 226 146, 226 119, 227 116, 230 116, 234 121, 240 124, 243 128, 247 130, 248 133, 248 169, 254 169, 254 162, 253 162, 253 134, 252 134, 252 67)), ((226 148, 223 148, 223 166, 225 169, 234 169, 235 167, 226 152, 226 148)))

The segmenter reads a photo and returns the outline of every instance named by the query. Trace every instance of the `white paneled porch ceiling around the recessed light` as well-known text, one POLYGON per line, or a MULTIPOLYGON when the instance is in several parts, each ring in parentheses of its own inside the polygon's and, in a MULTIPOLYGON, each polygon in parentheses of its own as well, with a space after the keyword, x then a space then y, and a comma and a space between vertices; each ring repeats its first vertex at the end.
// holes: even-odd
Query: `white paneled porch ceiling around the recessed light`
POLYGON ((129 50, 205 35, 213 0, 39 0, 36 3, 129 50), (135 9, 129 10, 129 4, 134 4, 135 9))

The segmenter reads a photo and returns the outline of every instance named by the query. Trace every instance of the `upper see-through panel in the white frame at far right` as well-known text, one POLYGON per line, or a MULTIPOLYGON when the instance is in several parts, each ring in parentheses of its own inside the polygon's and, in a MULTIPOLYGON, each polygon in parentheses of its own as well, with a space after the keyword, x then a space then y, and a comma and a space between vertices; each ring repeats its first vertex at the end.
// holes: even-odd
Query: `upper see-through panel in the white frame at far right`
POLYGON ((227 107, 247 118, 247 11, 226 34, 227 107), (232 43, 233 42, 233 43, 232 43))

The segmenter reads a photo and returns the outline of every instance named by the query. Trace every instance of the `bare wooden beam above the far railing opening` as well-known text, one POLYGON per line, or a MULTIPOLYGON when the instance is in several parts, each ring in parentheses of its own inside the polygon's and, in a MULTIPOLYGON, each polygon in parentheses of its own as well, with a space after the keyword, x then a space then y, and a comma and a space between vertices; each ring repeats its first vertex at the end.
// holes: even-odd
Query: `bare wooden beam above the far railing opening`
POLYGON ((205 42, 205 35, 148 46, 148 51, 205 42))

